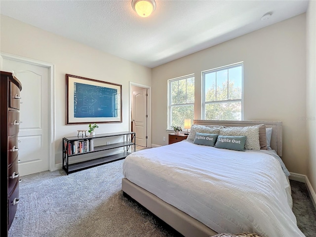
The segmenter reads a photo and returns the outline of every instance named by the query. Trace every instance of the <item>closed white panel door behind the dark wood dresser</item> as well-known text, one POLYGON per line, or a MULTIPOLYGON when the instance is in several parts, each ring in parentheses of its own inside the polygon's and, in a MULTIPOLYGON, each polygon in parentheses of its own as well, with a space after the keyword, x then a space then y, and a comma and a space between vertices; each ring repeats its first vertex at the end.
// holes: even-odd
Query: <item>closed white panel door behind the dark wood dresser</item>
POLYGON ((49 170, 49 69, 3 59, 3 68, 22 83, 20 105, 20 176, 49 170))

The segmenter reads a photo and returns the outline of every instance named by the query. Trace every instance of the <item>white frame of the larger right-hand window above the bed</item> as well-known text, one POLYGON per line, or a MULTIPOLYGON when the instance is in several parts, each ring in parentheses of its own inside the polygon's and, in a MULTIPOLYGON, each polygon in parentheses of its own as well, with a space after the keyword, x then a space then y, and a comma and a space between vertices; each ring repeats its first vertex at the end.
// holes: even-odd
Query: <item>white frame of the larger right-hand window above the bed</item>
MULTIPOLYGON (((241 102, 241 116, 240 116, 240 120, 243 120, 243 62, 238 62, 238 63, 234 63, 234 64, 230 64, 230 65, 226 65, 223 67, 218 67, 218 68, 214 68, 214 69, 210 69, 210 70, 206 70, 206 71, 202 71, 201 72, 201 79, 202 79, 202 86, 201 86, 201 118, 205 119, 205 106, 208 104, 215 104, 215 103, 227 103, 227 102, 237 102, 240 101, 241 102), (205 74, 208 73, 213 73, 213 72, 217 72, 217 71, 221 71, 224 69, 231 69, 231 68, 235 68, 235 67, 239 67, 241 66, 241 99, 234 99, 234 100, 221 100, 221 101, 207 101, 205 102, 205 74)), ((228 77, 229 80, 229 77, 228 77)))

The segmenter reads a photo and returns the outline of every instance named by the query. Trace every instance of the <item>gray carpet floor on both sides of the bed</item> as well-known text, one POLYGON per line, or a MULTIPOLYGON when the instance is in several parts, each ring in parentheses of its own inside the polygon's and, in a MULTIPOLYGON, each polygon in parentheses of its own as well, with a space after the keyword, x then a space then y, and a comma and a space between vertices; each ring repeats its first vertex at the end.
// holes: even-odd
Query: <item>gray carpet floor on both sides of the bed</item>
MULTIPOLYGON (((9 237, 176 237, 135 202, 123 197, 123 160, 66 175, 22 177, 9 237)), ((291 181, 294 214, 306 237, 316 236, 316 211, 305 185, 291 181)))

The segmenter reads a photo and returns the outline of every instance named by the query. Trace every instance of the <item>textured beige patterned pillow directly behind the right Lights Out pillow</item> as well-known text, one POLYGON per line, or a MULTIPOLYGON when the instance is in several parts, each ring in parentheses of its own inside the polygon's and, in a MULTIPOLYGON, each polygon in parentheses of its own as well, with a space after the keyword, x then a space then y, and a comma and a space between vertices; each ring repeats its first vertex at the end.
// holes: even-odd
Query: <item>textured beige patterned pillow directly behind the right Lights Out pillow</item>
POLYGON ((245 127, 221 127, 219 135, 222 136, 246 136, 246 150, 260 150, 259 126, 245 127))

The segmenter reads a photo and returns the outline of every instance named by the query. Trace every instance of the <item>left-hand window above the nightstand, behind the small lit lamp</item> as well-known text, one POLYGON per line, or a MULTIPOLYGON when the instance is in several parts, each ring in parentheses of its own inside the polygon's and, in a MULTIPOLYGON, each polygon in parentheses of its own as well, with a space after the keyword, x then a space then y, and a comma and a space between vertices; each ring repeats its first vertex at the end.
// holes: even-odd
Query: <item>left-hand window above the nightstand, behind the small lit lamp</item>
POLYGON ((181 126, 184 128, 184 119, 194 119, 194 75, 189 75, 168 81, 169 114, 168 128, 181 126))

